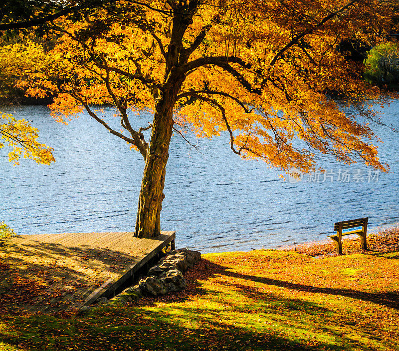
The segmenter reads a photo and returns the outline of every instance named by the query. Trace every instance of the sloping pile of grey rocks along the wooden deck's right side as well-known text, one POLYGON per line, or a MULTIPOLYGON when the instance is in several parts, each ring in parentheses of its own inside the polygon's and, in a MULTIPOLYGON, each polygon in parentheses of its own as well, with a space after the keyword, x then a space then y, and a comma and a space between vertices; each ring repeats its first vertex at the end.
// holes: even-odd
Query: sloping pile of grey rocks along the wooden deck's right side
MULTIPOLYGON (((125 305, 145 295, 159 296, 181 291, 187 286, 182 272, 192 268, 200 258, 201 254, 198 251, 187 249, 169 251, 157 265, 150 268, 147 276, 141 279, 139 284, 125 289, 106 303, 125 305)), ((104 304, 104 301, 99 303, 104 304)))

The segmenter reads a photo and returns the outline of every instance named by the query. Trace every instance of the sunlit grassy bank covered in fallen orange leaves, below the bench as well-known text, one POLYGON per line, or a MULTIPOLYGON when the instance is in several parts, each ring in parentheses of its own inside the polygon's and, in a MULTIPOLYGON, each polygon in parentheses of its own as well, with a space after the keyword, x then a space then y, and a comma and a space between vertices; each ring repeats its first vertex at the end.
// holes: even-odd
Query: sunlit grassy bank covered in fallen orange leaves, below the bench
POLYGON ((203 255, 187 290, 85 316, 1 316, 0 350, 399 350, 399 252, 203 255))

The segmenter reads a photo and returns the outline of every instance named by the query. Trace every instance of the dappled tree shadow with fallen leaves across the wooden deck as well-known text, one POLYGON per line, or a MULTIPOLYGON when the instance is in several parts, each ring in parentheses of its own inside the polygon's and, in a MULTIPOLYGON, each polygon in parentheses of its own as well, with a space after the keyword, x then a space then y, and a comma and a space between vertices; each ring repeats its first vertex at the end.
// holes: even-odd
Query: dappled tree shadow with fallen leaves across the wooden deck
POLYGON ((0 311, 57 311, 79 305, 104 282, 139 260, 126 251, 93 245, 7 240, 0 247, 0 311))

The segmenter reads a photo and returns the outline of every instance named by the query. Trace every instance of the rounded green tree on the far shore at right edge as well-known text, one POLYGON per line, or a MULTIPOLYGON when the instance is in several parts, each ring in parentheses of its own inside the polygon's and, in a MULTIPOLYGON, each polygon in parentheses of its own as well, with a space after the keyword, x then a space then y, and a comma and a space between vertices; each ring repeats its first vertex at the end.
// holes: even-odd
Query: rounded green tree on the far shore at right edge
POLYGON ((399 46, 383 43, 373 47, 364 60, 364 78, 370 84, 391 84, 399 82, 399 46))

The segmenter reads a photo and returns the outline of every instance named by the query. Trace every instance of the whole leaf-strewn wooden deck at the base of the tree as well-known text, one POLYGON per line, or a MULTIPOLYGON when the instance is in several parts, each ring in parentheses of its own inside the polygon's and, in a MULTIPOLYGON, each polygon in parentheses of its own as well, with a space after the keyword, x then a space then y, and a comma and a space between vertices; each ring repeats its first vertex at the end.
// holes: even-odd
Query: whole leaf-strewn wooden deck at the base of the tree
POLYGON ((3 307, 57 312, 113 297, 170 244, 174 248, 175 232, 152 239, 138 239, 131 232, 8 239, 0 246, 0 296, 8 302, 3 307))

